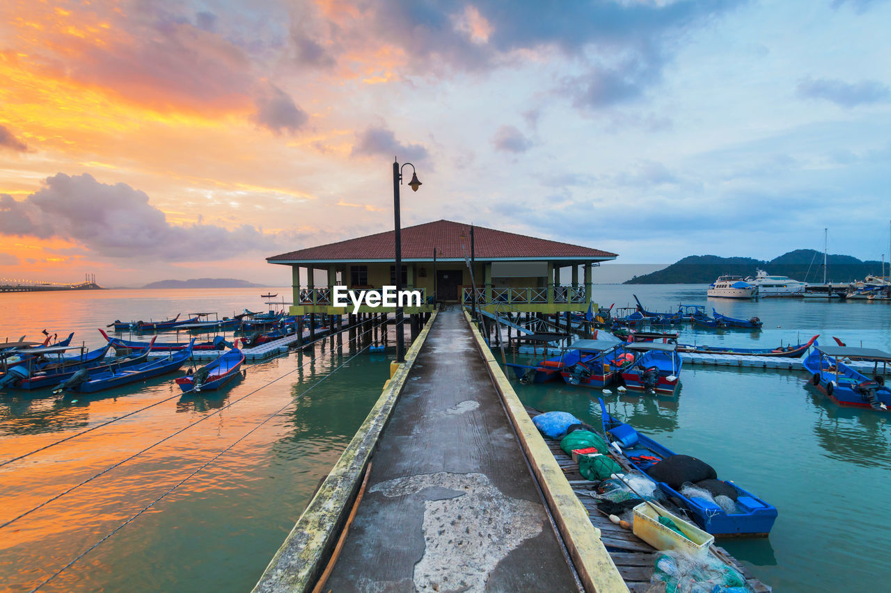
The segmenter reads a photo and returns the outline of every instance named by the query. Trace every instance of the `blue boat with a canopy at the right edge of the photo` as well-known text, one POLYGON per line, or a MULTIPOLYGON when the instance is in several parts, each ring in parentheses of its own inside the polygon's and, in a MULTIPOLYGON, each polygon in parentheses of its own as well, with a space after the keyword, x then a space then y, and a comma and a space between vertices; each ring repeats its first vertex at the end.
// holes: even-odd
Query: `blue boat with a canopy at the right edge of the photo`
POLYGON ((891 362, 891 353, 875 348, 814 345, 802 365, 811 374, 813 386, 838 405, 887 411, 891 406, 891 390, 885 385, 888 362, 891 362), (842 359, 873 362, 872 378, 852 369, 842 359))

